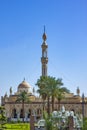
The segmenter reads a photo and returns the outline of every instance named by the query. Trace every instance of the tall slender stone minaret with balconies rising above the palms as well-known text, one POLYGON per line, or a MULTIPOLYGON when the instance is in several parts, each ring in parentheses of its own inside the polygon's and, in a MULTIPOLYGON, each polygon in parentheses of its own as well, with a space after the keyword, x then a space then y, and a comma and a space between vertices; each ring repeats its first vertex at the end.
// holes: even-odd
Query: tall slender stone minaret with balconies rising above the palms
POLYGON ((42 76, 47 76, 47 63, 48 63, 47 48, 48 48, 48 45, 46 43, 47 36, 45 34, 45 27, 44 27, 44 33, 43 33, 42 38, 43 38, 43 43, 41 45, 41 47, 42 47, 42 57, 41 57, 42 76))

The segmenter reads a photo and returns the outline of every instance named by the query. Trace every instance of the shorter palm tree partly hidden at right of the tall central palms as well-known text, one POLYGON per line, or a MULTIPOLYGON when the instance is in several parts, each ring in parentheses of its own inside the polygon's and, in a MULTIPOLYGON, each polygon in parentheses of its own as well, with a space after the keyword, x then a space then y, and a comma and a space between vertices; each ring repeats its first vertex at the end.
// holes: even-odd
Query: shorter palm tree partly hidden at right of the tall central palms
POLYGON ((69 93, 70 90, 68 90, 66 87, 58 88, 56 93, 56 98, 58 100, 58 110, 60 110, 60 102, 64 98, 64 93, 69 93))

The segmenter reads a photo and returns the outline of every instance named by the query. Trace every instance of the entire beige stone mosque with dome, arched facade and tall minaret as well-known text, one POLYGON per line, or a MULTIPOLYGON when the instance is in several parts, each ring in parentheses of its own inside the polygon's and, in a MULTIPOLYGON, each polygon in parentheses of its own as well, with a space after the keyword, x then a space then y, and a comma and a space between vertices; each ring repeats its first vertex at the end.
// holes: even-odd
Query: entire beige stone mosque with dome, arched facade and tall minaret
MULTIPOLYGON (((42 65, 42 76, 47 76, 47 64, 48 64, 48 45, 46 43, 46 33, 44 30, 43 33, 43 43, 41 45, 42 48, 42 57, 41 57, 41 65, 42 65)), ((13 94, 12 88, 10 88, 10 95, 5 94, 1 97, 1 105, 5 107, 5 114, 8 119, 17 121, 22 120, 23 118, 23 110, 22 110, 22 103, 16 102, 18 95, 25 91, 31 100, 30 103, 24 103, 24 120, 29 121, 30 115, 32 113, 35 114, 37 118, 41 117, 43 112, 43 101, 40 97, 35 96, 30 89, 33 87, 25 81, 25 79, 18 85, 17 92, 13 94)), ((50 104, 51 106, 52 104, 50 104)), ((55 101, 55 110, 57 110, 57 101, 55 101)), ((80 96, 80 89, 77 88, 77 94, 74 95, 73 93, 65 93, 65 98, 61 101, 61 107, 64 105, 66 110, 74 110, 75 112, 82 113, 83 116, 87 117, 87 98, 80 96)), ((47 110, 47 105, 45 105, 45 110, 47 110)))

